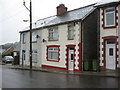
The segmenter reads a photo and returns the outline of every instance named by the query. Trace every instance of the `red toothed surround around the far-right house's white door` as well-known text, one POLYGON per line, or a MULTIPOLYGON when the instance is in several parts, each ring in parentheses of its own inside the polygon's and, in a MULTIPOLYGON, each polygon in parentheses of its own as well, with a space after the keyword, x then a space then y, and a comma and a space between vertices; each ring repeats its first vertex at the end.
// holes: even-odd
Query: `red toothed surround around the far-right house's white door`
POLYGON ((115 40, 115 49, 116 49, 116 52, 115 52, 115 70, 117 69, 117 63, 118 63, 118 61, 117 61, 117 58, 118 58, 118 55, 117 55, 117 52, 118 52, 118 48, 117 48, 117 45, 118 45, 118 42, 117 42, 117 36, 107 36, 107 37, 102 37, 102 39, 103 39, 103 49, 102 49, 102 51, 103 51, 103 54, 102 54, 102 56, 103 56, 103 64, 104 64, 104 66, 103 66, 103 70, 106 70, 106 40, 109 40, 109 39, 114 39, 115 40))

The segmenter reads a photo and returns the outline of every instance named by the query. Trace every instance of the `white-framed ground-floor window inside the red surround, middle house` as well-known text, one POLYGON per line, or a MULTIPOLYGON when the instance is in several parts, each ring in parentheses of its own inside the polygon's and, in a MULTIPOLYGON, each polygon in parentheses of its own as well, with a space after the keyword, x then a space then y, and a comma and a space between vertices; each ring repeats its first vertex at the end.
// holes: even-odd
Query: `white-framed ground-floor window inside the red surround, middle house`
POLYGON ((48 47, 48 61, 59 61, 59 47, 48 47), (56 50, 56 48, 57 48, 57 50, 56 50), (51 53, 51 54, 49 54, 49 53, 51 53), (58 56, 53 57, 54 53, 57 53, 58 56), (49 56, 49 55, 51 55, 51 56, 49 56), (50 57, 52 57, 52 58, 50 58, 50 57))

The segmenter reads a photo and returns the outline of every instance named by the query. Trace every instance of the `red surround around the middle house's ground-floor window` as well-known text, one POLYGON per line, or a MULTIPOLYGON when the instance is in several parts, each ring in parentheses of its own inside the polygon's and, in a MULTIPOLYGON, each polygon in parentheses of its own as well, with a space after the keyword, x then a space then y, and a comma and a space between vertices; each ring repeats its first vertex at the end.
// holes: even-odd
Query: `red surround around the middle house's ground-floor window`
POLYGON ((46 52, 47 52, 47 53, 46 53, 46 59, 47 59, 47 61, 53 61, 53 62, 59 62, 59 61, 60 61, 60 48, 59 48, 59 47, 60 47, 60 45, 49 45, 49 46, 47 46, 47 51, 46 51, 46 52), (58 60, 49 59, 49 48, 52 48, 52 47, 53 47, 53 48, 54 48, 54 47, 55 47, 55 48, 56 48, 56 47, 58 48, 58 57, 57 57, 58 60))

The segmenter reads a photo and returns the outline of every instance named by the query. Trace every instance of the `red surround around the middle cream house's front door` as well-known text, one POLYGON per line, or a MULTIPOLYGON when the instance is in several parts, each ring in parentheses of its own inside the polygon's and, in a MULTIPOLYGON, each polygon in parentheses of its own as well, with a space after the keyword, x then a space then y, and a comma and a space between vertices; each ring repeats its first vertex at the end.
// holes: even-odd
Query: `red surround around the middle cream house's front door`
POLYGON ((75 71, 75 45, 66 45, 66 69, 69 70, 69 48, 73 47, 74 48, 74 67, 73 67, 73 71, 75 71))

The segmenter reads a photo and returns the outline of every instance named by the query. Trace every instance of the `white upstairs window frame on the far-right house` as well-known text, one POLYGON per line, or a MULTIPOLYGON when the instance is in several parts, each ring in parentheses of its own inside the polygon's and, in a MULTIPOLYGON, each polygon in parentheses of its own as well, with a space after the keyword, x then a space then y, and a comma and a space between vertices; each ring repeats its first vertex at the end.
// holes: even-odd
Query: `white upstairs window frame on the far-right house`
POLYGON ((115 7, 109 7, 109 8, 104 9, 104 24, 105 24, 105 27, 115 26, 115 7), (114 9, 114 11, 106 12, 108 9, 114 9), (107 14, 114 14, 114 24, 113 25, 107 25, 107 18, 106 18, 107 14))

